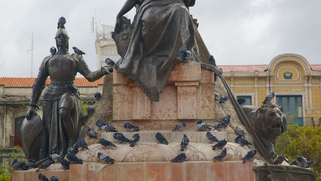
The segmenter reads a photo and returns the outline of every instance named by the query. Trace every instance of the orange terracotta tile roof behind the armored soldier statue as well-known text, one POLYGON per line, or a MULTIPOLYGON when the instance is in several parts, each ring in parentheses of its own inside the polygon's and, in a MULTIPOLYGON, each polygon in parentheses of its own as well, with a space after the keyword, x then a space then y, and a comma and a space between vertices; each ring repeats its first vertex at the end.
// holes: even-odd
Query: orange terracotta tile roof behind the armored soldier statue
MULTIPOLYGON (((1 77, 0 85, 4 87, 32 87, 35 83, 36 78, 14 78, 14 77, 1 77)), ((50 78, 47 78, 46 85, 50 84, 50 78)), ((74 84, 77 87, 97 87, 99 84, 104 83, 104 77, 100 78, 97 81, 89 82, 84 77, 76 77, 74 84)))

